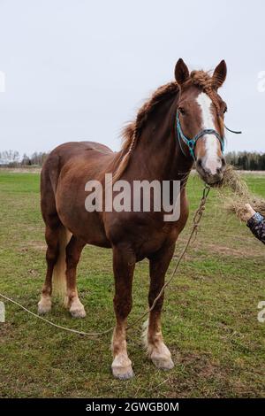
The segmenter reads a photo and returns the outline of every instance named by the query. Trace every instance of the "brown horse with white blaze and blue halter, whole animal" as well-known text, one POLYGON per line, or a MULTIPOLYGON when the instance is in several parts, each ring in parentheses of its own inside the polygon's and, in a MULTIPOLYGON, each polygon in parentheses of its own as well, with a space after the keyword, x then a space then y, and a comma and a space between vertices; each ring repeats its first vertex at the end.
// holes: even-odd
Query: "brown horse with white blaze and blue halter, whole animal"
MULTIPOLYGON (((163 287, 179 233, 186 225, 186 180, 193 166, 203 181, 213 184, 223 177, 223 113, 226 104, 217 94, 226 77, 221 61, 212 76, 189 70, 182 59, 175 67, 176 81, 157 89, 125 128, 122 150, 92 142, 64 143, 49 154, 42 168, 42 216, 46 225, 47 274, 38 304, 39 313, 51 308, 52 280, 63 279, 66 304, 73 317, 85 317, 76 287, 76 267, 86 244, 113 250, 116 327, 112 337, 112 373, 119 379, 133 376, 126 350, 125 327, 132 309, 133 271, 148 258, 149 305, 163 287), (179 128, 176 117, 178 116, 179 128), (207 130, 206 130, 207 129, 207 130), (202 130, 202 132, 201 132, 202 130), (200 135, 201 132, 201 135, 200 135), (198 135, 199 133, 199 135, 198 135), (180 135, 180 136, 179 136, 180 135), (193 149, 186 137, 196 137, 193 149), (116 181, 180 181, 180 217, 165 222, 163 212, 87 212, 88 180, 103 183, 105 173, 116 181)), ((173 367, 163 343, 163 297, 150 312, 145 343, 155 366, 173 367)))

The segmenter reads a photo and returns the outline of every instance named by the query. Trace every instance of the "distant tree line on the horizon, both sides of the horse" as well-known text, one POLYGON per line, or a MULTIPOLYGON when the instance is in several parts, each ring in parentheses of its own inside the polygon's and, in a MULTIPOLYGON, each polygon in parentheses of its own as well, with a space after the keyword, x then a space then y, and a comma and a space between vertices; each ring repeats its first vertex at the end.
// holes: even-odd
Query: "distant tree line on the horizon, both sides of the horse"
MULTIPOLYGON (((49 153, 35 151, 31 156, 26 153, 20 157, 17 150, 0 152, 0 166, 24 167, 42 166, 49 153)), ((265 153, 250 151, 231 151, 225 155, 226 162, 246 171, 265 171, 265 153)))

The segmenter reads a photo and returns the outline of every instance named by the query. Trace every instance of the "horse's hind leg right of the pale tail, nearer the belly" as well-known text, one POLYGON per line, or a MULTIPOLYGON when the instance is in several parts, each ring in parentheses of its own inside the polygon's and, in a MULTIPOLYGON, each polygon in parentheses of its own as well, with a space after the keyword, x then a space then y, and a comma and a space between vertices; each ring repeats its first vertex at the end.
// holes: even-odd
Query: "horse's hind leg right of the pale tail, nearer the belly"
POLYGON ((79 301, 76 286, 76 268, 79 262, 81 251, 86 243, 72 235, 70 242, 66 246, 66 300, 65 304, 74 318, 84 318, 85 308, 79 301))

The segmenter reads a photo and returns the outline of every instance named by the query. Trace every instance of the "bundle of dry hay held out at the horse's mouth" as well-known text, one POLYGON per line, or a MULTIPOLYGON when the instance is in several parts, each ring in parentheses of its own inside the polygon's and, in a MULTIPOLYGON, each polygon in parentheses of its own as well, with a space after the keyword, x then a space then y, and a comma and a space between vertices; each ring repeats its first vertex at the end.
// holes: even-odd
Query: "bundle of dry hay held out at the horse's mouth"
MULTIPOLYGON (((261 196, 254 196, 247 188, 246 181, 233 166, 228 165, 223 174, 223 181, 218 184, 220 189, 231 189, 232 195, 224 196, 225 208, 235 212, 240 220, 246 214, 245 204, 251 204, 255 211, 265 215, 265 200, 261 196)), ((223 193, 222 193, 223 198, 223 193)))

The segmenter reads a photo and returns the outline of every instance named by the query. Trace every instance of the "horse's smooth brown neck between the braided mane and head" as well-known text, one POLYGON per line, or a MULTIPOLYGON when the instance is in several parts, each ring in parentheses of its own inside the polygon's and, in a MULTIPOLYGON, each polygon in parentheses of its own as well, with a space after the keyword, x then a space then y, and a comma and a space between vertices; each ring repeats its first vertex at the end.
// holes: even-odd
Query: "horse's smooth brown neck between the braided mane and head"
POLYGON ((175 118, 177 100, 161 104, 150 116, 138 139, 129 164, 143 180, 184 180, 193 162, 186 158, 177 143, 175 118))

